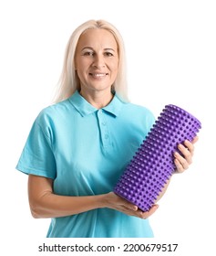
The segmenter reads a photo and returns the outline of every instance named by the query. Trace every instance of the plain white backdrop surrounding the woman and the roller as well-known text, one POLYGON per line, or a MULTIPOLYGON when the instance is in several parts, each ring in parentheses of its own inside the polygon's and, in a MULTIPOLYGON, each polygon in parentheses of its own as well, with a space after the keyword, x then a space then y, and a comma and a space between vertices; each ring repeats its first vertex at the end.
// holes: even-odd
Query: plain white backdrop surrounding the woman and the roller
POLYGON ((50 243, 45 239, 49 219, 31 217, 27 176, 17 172, 15 165, 37 113, 52 99, 69 36, 92 18, 108 20, 124 38, 131 101, 148 107, 155 116, 165 104, 173 103, 201 120, 193 165, 173 177, 157 213, 150 218, 155 233, 151 242, 179 243, 180 250, 173 255, 212 255, 216 229, 215 14, 214 1, 209 0, 0 1, 0 251, 4 255, 24 251, 37 255, 41 242, 50 243))

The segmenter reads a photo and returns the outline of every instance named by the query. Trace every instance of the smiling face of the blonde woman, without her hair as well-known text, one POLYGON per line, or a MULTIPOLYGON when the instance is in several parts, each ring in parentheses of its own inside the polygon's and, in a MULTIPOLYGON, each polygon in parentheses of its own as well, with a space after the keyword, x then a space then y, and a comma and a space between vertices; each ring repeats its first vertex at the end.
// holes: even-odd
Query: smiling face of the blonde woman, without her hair
POLYGON ((110 91, 118 74, 118 45, 106 29, 87 29, 78 40, 75 68, 81 91, 110 91))

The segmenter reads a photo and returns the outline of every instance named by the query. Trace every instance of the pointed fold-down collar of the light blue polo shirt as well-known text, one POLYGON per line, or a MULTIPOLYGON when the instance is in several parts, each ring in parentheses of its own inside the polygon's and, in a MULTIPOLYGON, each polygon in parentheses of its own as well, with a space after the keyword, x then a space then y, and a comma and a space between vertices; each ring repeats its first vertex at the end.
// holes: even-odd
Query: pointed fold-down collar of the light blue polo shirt
MULTIPOLYGON (((69 98, 69 101, 82 116, 98 111, 98 109, 88 103, 78 91, 75 91, 75 93, 69 98)), ((102 110, 109 112, 114 116, 118 116, 123 104, 124 102, 118 98, 117 94, 115 94, 112 101, 110 101, 106 107, 102 108, 102 110)))

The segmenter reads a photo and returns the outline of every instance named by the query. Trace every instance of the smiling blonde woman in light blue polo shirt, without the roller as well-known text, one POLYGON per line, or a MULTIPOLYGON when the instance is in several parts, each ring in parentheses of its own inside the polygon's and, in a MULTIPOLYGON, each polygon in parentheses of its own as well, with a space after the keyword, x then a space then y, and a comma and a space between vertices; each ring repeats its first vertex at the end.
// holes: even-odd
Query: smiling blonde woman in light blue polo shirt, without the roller
MULTIPOLYGON (((106 21, 87 21, 69 39, 56 102, 36 117, 16 166, 28 174, 32 215, 52 219, 47 237, 153 236, 158 205, 142 212, 110 192, 154 123, 128 101, 124 57, 106 21)), ((177 172, 190 165, 193 143, 174 154, 177 172)))

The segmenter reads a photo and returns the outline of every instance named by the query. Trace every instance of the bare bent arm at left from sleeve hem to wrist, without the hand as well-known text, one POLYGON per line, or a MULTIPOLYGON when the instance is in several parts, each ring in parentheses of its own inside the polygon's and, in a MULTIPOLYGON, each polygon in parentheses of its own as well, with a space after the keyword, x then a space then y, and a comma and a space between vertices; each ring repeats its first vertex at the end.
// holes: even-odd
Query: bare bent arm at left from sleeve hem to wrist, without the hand
POLYGON ((28 177, 29 205, 34 218, 55 218, 102 207, 102 196, 67 197, 53 193, 53 180, 43 176, 28 177))

